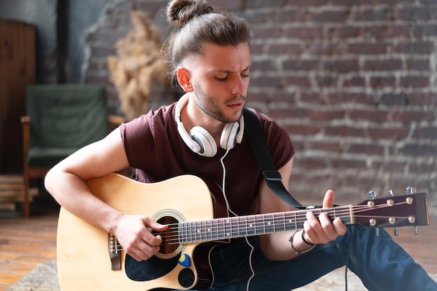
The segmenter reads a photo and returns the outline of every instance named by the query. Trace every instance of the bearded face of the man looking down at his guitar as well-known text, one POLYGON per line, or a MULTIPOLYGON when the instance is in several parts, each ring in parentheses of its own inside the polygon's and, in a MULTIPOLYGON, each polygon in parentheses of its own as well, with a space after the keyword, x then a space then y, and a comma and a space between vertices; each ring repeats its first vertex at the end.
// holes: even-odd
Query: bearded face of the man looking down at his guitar
POLYGON ((189 59, 187 66, 200 110, 221 122, 238 121, 249 87, 249 45, 242 43, 235 47, 207 43, 204 54, 189 59))

